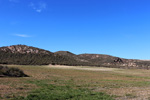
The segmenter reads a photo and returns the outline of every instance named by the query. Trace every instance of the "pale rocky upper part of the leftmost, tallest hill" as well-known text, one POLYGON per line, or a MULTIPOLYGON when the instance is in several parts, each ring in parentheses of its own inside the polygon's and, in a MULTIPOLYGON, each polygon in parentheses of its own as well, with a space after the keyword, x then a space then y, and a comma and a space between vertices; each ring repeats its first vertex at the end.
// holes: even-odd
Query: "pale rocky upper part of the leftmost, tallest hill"
POLYGON ((31 46, 26 46, 26 45, 12 45, 12 46, 7 46, 7 47, 1 47, 0 50, 5 51, 5 52, 11 52, 11 53, 32 53, 32 54, 50 54, 50 51, 46 51, 43 49, 31 47, 31 46))

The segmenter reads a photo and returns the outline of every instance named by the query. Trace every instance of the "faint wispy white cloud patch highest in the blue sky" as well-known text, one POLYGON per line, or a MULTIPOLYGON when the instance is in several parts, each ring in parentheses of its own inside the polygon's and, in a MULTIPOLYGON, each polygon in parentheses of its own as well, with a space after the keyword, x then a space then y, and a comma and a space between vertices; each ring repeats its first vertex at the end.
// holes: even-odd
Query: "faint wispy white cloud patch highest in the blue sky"
POLYGON ((40 13, 44 9, 46 9, 47 4, 45 2, 39 2, 39 3, 33 3, 33 2, 31 2, 29 4, 29 6, 32 7, 32 9, 34 9, 36 12, 40 13))

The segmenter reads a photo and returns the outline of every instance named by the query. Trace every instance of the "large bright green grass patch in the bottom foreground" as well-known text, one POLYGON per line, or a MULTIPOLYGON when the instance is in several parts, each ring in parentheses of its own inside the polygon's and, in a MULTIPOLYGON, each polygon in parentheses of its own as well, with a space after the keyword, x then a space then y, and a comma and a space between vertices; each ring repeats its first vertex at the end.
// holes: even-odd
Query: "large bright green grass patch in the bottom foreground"
POLYGON ((102 92, 93 92, 85 88, 73 88, 71 85, 57 86, 44 81, 30 81, 41 88, 34 90, 27 97, 13 100, 114 100, 112 96, 102 92))

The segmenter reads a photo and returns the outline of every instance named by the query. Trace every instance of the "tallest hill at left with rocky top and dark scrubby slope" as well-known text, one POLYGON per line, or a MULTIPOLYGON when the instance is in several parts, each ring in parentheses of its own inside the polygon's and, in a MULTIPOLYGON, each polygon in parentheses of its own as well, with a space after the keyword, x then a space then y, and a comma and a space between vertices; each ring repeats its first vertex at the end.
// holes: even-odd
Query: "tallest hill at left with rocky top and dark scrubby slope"
POLYGON ((48 65, 76 62, 67 56, 26 45, 12 45, 0 48, 0 64, 48 65))

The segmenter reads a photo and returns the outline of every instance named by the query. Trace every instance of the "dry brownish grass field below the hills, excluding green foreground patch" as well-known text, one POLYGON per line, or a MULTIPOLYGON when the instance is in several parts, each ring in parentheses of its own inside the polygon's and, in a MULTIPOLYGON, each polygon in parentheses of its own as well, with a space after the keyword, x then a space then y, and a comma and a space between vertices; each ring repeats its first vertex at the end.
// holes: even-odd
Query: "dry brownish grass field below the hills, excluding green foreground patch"
MULTIPOLYGON (((42 90, 41 87, 44 88, 49 84, 55 88, 57 86, 68 86, 59 88, 59 91, 52 89, 55 95, 61 93, 60 91, 63 89, 71 88, 75 91, 69 91, 72 91, 76 95, 76 89, 88 89, 88 91, 91 91, 90 95, 95 93, 93 100, 97 100, 98 94, 96 93, 105 93, 106 98, 110 95, 111 98, 116 100, 150 100, 150 70, 58 65, 9 65, 8 67, 22 69, 30 77, 0 77, 0 100, 21 100, 21 98, 30 94, 37 94, 37 91, 42 90)), ((23 100, 32 100, 31 95, 28 99, 23 98, 23 100)), ((104 98, 102 100, 107 99, 104 98)))

